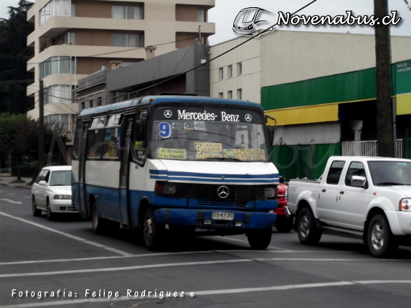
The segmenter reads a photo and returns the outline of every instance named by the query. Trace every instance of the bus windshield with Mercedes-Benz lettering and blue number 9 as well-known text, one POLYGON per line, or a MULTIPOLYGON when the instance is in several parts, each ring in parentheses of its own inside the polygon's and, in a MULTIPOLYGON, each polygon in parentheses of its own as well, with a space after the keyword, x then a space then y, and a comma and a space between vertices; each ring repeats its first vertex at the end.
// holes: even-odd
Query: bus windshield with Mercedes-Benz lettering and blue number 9
POLYGON ((263 162, 268 156, 260 113, 229 107, 161 107, 154 112, 152 157, 263 162))

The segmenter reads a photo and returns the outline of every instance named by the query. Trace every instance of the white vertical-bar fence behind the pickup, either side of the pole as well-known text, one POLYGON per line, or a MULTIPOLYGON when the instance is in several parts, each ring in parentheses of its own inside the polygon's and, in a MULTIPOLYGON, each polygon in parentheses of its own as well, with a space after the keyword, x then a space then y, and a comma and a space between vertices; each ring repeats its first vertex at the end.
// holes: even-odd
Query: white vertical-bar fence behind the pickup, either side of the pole
MULTIPOLYGON (((351 141, 342 143, 343 156, 378 156, 377 141, 351 141)), ((397 158, 403 158, 403 140, 397 140, 397 158)))

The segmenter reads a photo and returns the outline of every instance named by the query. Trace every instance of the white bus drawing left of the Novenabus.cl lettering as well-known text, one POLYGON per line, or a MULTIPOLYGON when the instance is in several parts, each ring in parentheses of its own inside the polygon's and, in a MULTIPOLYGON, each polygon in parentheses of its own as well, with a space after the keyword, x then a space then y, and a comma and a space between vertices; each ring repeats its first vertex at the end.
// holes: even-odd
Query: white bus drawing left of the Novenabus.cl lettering
POLYGON ((235 17, 233 31, 237 34, 253 35, 255 37, 267 31, 272 31, 275 27, 270 27, 271 22, 264 20, 264 18, 270 17, 270 15, 273 15, 273 13, 265 9, 242 9, 237 14, 237 17, 235 17))

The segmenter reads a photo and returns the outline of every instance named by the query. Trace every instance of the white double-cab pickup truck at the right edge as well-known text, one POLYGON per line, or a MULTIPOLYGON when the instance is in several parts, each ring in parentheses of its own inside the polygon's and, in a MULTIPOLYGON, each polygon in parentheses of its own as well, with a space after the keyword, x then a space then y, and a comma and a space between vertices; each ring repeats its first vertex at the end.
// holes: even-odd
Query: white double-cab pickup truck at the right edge
POLYGON ((387 257, 411 243, 411 160, 330 157, 319 179, 289 182, 286 215, 303 244, 332 229, 362 235, 373 256, 387 257))

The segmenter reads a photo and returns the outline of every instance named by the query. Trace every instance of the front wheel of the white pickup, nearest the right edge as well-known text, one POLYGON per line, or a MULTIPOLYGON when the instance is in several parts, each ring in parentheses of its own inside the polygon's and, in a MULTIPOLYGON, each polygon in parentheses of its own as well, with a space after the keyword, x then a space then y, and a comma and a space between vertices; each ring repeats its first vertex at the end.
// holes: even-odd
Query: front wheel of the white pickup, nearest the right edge
POLYGON ((368 248, 374 257, 386 258, 398 247, 395 236, 391 233, 384 215, 372 217, 368 226, 368 248))

